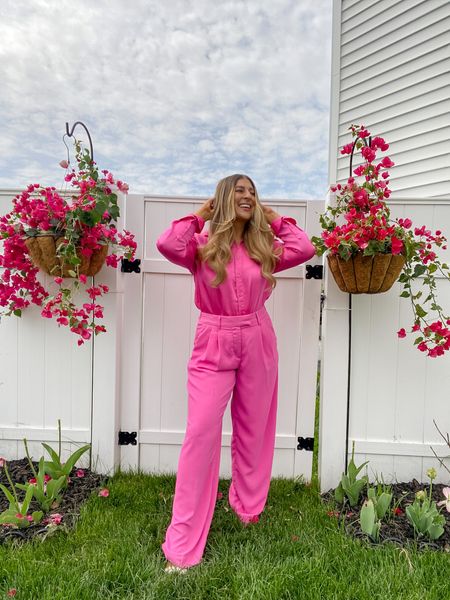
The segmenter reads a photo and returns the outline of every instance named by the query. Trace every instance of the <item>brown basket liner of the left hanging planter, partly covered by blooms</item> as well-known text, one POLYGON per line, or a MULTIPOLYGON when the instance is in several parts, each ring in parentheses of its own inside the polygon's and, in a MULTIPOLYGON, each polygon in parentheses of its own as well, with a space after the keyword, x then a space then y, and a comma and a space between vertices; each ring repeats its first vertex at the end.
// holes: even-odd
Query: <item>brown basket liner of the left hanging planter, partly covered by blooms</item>
MULTIPOLYGON (((69 271, 74 271, 73 265, 61 263, 56 256, 57 246, 64 240, 63 237, 55 238, 53 235, 39 235, 25 240, 32 263, 53 277, 71 277, 69 271)), ((96 275, 105 262, 108 246, 94 250, 92 256, 83 256, 77 253, 81 260, 79 265, 80 275, 96 275)))

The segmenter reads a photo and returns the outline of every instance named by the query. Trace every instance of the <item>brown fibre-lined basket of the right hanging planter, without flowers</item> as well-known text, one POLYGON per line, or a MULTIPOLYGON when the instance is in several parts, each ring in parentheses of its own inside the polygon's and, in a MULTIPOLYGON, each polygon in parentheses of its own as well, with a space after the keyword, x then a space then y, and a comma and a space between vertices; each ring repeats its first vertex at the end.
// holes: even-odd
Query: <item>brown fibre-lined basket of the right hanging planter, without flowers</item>
POLYGON ((338 255, 327 256, 328 266, 339 289, 349 294, 387 292, 400 275, 405 257, 401 254, 355 254, 349 260, 338 255))

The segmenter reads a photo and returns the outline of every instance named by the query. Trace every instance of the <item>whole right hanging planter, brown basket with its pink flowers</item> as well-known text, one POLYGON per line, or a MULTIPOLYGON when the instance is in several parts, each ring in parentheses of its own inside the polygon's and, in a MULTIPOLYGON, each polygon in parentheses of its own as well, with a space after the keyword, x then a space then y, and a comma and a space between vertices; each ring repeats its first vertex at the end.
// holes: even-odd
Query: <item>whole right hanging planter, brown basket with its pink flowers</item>
MULTIPOLYGON (((447 249, 447 239, 439 229, 414 227, 408 217, 391 218, 386 199, 391 195, 388 169, 394 163, 388 156, 376 162, 377 152, 389 144, 382 137, 372 138, 364 125, 349 129, 356 139, 341 150, 350 154, 347 183, 330 187, 336 196, 319 217, 320 237, 311 241, 319 256, 326 254, 329 270, 345 293, 379 294, 398 281, 400 297, 408 298, 413 311, 414 344, 427 356, 442 356, 450 351, 450 315, 438 303, 436 278, 450 281, 450 266, 438 256, 439 249, 447 249), (355 148, 362 163, 353 170, 355 148), (358 183, 354 175, 364 181, 358 183)), ((403 327, 397 331, 399 338, 406 333, 403 327)))

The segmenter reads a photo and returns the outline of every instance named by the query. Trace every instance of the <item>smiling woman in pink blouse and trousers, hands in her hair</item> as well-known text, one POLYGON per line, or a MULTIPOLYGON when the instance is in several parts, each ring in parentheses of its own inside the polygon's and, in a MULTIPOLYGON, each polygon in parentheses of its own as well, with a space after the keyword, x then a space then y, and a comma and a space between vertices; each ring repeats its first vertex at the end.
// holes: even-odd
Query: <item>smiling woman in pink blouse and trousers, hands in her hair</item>
POLYGON ((278 384, 276 337, 264 303, 276 285, 273 273, 309 260, 315 250, 295 220, 263 206, 253 181, 240 174, 219 181, 214 198, 174 221, 157 247, 194 275, 201 311, 188 364, 188 419, 172 521, 162 545, 166 571, 184 572, 202 560, 206 545, 230 396, 228 500, 245 524, 257 521, 264 509, 278 384), (208 220, 209 234, 202 234, 208 220))

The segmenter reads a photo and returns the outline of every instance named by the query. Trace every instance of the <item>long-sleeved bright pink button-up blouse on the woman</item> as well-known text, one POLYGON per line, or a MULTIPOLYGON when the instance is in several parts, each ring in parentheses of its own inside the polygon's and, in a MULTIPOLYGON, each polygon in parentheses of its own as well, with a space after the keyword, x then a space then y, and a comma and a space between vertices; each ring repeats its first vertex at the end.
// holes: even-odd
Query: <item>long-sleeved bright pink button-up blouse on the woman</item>
MULTIPOLYGON (((232 258, 226 267, 227 277, 218 287, 212 287, 209 282, 215 277, 214 271, 196 258, 198 246, 208 241, 207 233, 201 233, 204 224, 205 221, 194 214, 173 221, 157 240, 158 250, 194 275, 195 305, 202 312, 230 316, 256 312, 272 293, 269 282, 261 275, 261 265, 249 257, 244 242, 234 243, 232 258)), ((281 240, 274 240, 274 247, 283 248, 274 273, 300 265, 314 256, 314 246, 297 227, 295 219, 279 217, 272 221, 271 227, 281 240)))

